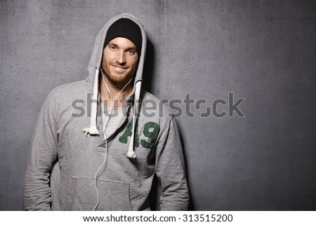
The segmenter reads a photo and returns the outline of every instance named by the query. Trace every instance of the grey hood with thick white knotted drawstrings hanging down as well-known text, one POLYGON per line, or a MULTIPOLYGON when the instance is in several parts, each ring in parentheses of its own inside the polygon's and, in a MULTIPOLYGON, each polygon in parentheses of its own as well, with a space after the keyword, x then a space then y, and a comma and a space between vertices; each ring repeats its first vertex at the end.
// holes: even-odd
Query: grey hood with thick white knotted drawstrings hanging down
MULTIPOLYGON (((140 57, 138 60, 138 69, 136 74, 134 75, 134 85, 133 85, 133 93, 131 96, 134 97, 134 104, 133 104, 133 130, 132 130, 132 137, 135 135, 135 128, 137 122, 137 112, 140 107, 140 90, 142 86, 143 80, 143 67, 145 62, 145 53, 146 53, 146 44, 147 44, 147 35, 143 26, 140 25, 140 22, 131 14, 123 13, 120 15, 115 16, 111 20, 109 20, 104 27, 101 29, 99 34, 96 36, 96 41, 93 46, 92 55, 90 58, 90 62, 88 65, 88 76, 85 80, 85 86, 90 90, 93 95, 93 99, 91 102, 91 124, 89 128, 84 128, 83 132, 86 132, 86 135, 99 135, 98 128, 96 126, 96 118, 97 118, 97 107, 98 107, 98 84, 99 84, 99 74, 100 74, 100 66, 103 57, 103 48, 105 43, 105 37, 107 36, 107 31, 110 26, 121 18, 126 18, 132 20, 133 22, 140 27, 140 32, 142 35, 142 44, 141 44, 141 51, 140 57)), ((126 107, 130 107, 129 104, 126 104, 126 107)), ((127 109, 129 110, 129 109, 127 109)), ((127 156, 129 158, 136 158, 135 151, 133 151, 133 144, 134 138, 131 138, 129 143, 129 151, 127 156)))

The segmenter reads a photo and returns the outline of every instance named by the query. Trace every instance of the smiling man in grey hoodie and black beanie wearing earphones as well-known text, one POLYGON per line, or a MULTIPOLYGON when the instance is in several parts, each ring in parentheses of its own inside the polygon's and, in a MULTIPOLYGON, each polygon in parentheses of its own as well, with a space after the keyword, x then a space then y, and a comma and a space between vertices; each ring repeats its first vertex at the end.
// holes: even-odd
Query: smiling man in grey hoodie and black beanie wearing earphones
POLYGON ((136 18, 117 15, 96 37, 86 80, 48 95, 29 152, 26 210, 150 210, 154 174, 161 210, 187 209, 173 117, 166 107, 144 115, 144 102, 159 106, 141 90, 146 42, 136 18), (78 114, 77 102, 91 112, 78 114))

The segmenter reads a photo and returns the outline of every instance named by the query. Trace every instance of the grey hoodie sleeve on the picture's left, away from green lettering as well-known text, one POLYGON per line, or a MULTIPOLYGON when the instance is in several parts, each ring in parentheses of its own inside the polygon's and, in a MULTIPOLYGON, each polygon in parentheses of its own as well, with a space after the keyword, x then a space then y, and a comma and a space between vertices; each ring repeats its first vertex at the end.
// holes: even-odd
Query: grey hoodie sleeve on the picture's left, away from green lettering
POLYGON ((58 135, 48 95, 37 119, 25 173, 25 210, 51 210, 49 173, 57 156, 58 135))

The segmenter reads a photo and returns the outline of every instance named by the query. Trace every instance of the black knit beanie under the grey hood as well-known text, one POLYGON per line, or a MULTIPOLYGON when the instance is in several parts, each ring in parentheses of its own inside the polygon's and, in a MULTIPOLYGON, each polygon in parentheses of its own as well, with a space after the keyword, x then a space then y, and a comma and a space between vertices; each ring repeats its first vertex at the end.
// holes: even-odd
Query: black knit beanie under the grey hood
POLYGON ((132 20, 121 18, 109 27, 107 30, 107 36, 105 36, 104 47, 107 46, 112 39, 117 37, 124 37, 129 39, 136 46, 138 55, 140 55, 140 50, 142 49, 142 33, 140 32, 140 27, 132 20))

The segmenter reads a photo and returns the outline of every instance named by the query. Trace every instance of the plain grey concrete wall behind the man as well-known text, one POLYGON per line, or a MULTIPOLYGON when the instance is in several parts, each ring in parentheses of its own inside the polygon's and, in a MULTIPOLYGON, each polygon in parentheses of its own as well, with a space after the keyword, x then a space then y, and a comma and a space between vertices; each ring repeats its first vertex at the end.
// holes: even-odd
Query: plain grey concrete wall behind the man
POLYGON ((316 210, 316 3, 227 0, 1 0, 0 210, 23 209, 46 95, 85 78, 96 34, 124 12, 149 34, 146 88, 206 100, 178 118, 190 209, 316 210), (230 92, 244 117, 201 118, 230 92))

